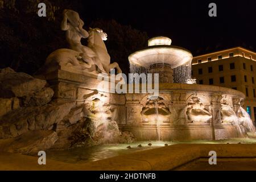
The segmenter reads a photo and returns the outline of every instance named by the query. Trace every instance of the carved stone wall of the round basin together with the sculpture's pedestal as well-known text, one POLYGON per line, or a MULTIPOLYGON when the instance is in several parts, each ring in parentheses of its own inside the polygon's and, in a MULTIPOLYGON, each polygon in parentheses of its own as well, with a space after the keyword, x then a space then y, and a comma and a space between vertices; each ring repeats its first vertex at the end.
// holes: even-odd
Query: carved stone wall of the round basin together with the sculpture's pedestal
POLYGON ((249 118, 241 109, 245 96, 233 89, 164 83, 159 85, 159 96, 151 98, 145 93, 110 93, 109 88, 99 88, 102 81, 93 75, 58 71, 47 80, 56 100, 76 101, 77 106, 100 100, 101 107, 108 108, 106 118, 137 140, 155 140, 157 127, 163 140, 235 138, 241 137, 238 128, 244 135, 243 128, 249 127, 249 118))

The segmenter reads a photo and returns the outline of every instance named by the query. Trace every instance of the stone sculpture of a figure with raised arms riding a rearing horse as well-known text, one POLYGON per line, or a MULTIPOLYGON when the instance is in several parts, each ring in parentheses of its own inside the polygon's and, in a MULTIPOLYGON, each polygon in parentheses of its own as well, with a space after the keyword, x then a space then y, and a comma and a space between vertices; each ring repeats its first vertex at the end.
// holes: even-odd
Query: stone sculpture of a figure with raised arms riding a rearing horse
POLYGON ((82 28, 83 26, 84 22, 76 11, 63 11, 61 30, 66 31, 66 40, 70 49, 61 48, 52 52, 47 57, 44 67, 36 75, 56 69, 94 75, 109 74, 110 69, 114 68, 117 69, 117 73, 122 72, 117 63, 110 64, 110 56, 104 43, 104 40, 107 40, 107 34, 100 28, 89 28, 89 31, 86 31, 82 28), (87 46, 81 44, 82 38, 87 38, 87 46))

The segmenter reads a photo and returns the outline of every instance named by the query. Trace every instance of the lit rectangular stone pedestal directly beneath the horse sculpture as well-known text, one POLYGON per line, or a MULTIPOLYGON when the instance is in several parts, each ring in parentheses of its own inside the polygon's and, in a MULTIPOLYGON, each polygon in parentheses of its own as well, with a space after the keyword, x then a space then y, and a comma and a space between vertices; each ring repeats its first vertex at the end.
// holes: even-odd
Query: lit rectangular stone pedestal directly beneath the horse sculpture
MULTIPOLYGON (((47 80, 54 90, 55 100, 75 101, 77 106, 86 105, 93 99, 99 99, 101 107, 108 107, 112 112, 112 119, 118 123, 126 123, 125 94, 110 93, 110 78, 106 76, 102 80, 90 73, 72 73, 57 70, 44 76, 36 76, 47 80), (88 98, 90 98, 88 100, 88 98)), ((114 83, 115 84, 115 83, 114 83)), ((99 106, 95 106, 99 107, 99 106)), ((97 108, 96 108, 97 109, 97 108)), ((98 108, 102 109, 102 108, 98 108)))

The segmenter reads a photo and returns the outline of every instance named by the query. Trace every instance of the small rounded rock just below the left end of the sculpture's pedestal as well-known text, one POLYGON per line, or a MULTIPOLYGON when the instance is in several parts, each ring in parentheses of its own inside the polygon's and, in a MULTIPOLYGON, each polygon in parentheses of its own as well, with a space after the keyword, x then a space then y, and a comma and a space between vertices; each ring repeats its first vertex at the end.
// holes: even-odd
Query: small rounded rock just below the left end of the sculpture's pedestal
POLYGON ((24 106, 43 106, 51 101, 54 92, 51 88, 46 87, 30 96, 22 99, 24 106))

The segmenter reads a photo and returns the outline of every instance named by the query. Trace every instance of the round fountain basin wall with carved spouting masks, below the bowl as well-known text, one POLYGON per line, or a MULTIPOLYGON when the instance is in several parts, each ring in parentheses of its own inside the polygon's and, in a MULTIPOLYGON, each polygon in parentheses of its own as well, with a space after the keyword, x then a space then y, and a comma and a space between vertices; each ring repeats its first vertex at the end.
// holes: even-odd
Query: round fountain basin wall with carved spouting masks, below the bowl
MULTIPOLYGON (((126 94, 126 122, 122 131, 130 131, 137 140, 227 139, 245 137, 255 131, 240 122, 252 122, 241 101, 245 95, 220 86, 159 84, 158 118, 149 110, 150 94, 126 94), (227 111, 228 110, 228 111, 227 111), (161 115, 168 111, 169 115, 161 115), (232 111, 232 112, 231 112, 232 111), (226 115, 229 113, 229 115, 226 115), (230 115, 231 113, 231 115, 230 115), (207 116, 207 117, 205 117, 207 116), (233 118, 231 121, 230 118, 233 118), (247 119, 244 119, 247 118, 247 119)), ((251 124, 251 123, 250 123, 251 124)))

